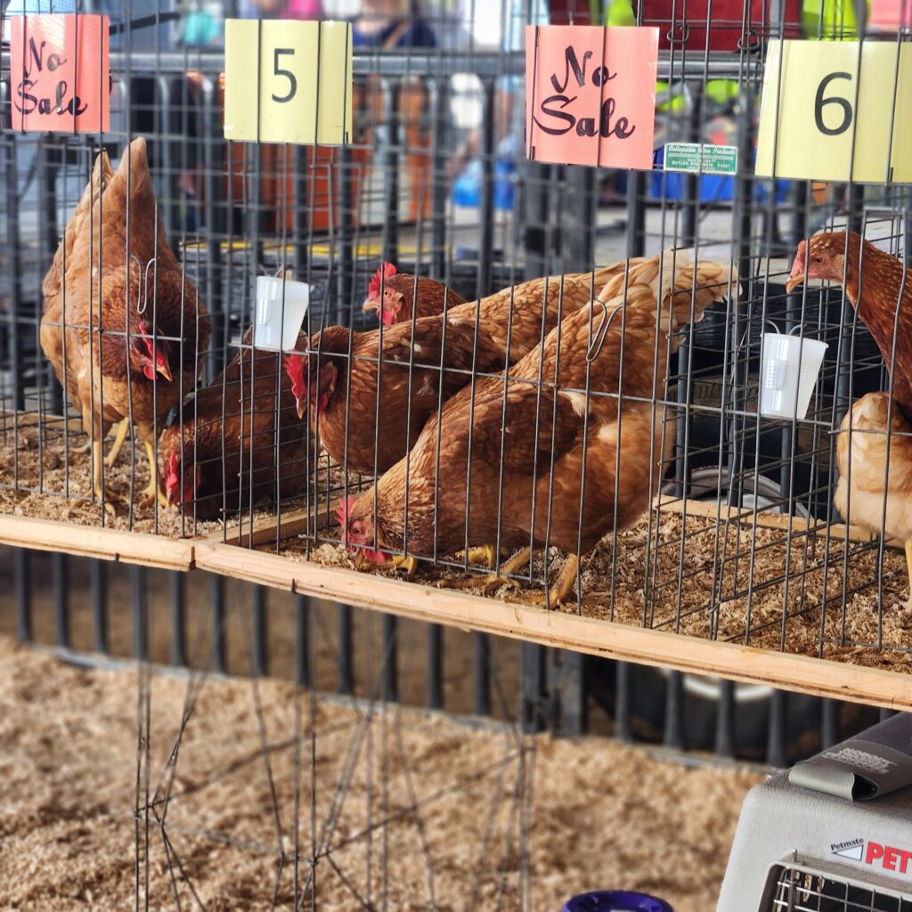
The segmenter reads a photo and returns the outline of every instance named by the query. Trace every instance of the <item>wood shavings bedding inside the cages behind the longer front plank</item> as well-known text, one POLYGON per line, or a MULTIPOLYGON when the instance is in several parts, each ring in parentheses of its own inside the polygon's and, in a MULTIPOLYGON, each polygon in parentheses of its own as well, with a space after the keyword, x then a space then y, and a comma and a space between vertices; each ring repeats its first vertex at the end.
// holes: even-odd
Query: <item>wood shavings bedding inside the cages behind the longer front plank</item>
MULTIPOLYGON (((644 518, 618 534, 616 549, 612 536, 606 536, 582 571, 582 615, 912 674, 912 655, 906 651, 912 648, 912 606, 907 606, 901 552, 885 549, 881 568, 876 542, 850 542, 846 549, 841 539, 831 537, 827 544, 823 534, 801 534, 790 545, 782 529, 732 521, 727 529, 720 524, 717 532, 715 519, 705 516, 682 522, 678 514, 653 513, 651 523, 644 518)), ((289 540, 281 553, 303 560, 306 543, 289 540)), ((310 559, 354 567, 347 552, 332 543, 313 547, 310 559)), ((552 580, 563 561, 564 555, 552 549, 552 580)), ((395 570, 380 572, 401 576, 395 570)), ((455 575, 452 568, 420 562, 416 581, 433 585, 455 575)), ((541 553, 534 578, 544 578, 541 553)), ((510 600, 515 592, 516 586, 502 586, 490 595, 510 600)), ((575 614, 577 605, 557 610, 575 614)))

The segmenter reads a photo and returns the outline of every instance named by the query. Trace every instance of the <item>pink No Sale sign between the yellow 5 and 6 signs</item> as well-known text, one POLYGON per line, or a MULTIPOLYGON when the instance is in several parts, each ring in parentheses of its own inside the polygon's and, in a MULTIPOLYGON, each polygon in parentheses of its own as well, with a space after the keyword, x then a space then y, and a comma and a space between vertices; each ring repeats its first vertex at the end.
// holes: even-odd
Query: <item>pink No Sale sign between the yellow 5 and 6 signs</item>
POLYGON ((657 70, 658 28, 527 26, 528 157, 650 169, 657 70))

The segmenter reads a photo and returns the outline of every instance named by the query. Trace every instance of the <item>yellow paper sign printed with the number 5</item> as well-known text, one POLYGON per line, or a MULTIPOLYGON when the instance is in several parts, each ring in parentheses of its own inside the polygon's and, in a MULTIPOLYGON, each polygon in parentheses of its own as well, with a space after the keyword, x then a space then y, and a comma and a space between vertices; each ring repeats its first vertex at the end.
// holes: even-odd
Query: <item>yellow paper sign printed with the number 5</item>
POLYGON ((348 23, 226 21, 226 140, 342 145, 351 91, 348 23))

